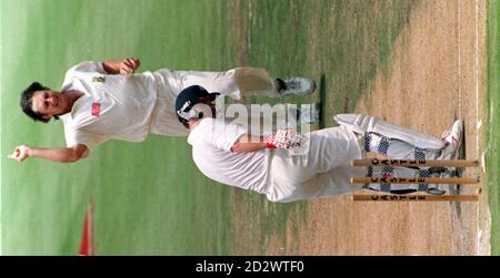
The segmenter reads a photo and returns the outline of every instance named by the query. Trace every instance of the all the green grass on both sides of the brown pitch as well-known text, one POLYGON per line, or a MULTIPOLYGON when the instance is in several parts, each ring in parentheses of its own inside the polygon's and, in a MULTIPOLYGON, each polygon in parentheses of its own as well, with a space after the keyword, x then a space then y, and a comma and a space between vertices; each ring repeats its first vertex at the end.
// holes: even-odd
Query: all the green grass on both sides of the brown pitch
MULTIPOLYGON (((141 144, 107 142, 89 158, 71 165, 7 161, 7 154, 21 143, 64 145, 60 123, 36 124, 20 112, 20 91, 33 80, 58 90, 66 71, 84 60, 136 55, 142 61, 142 71, 217 71, 248 63, 267 68, 277 76, 308 75, 317 80, 320 93, 329 92, 322 101, 324 125, 331 126, 332 115, 352 111, 358 99, 368 93, 376 72, 384 72, 396 38, 420 3, 2 0, 2 254, 76 255, 90 197, 99 255, 238 253, 231 246, 239 236, 231 230, 234 202, 247 202, 250 208, 238 219, 254 239, 242 243, 250 246, 246 250, 262 254, 276 235, 296 233, 287 230, 287 223, 293 217, 293 223, 301 225, 309 214, 306 202, 276 205, 256 193, 231 194, 228 186, 200 174, 186 138, 150 136, 141 144)), ((498 17, 498 1, 490 3, 489 17, 498 17)), ((498 27, 489 28, 490 35, 498 33, 498 27)), ((498 50, 491 42, 490 51, 498 50)), ((498 66, 498 55, 490 54, 489 64, 498 66)), ((490 68, 489 173, 498 173, 499 138, 494 131, 500 128, 500 95, 496 76, 498 69, 494 73, 490 68)), ((312 102, 319 95, 287 101, 312 102)), ((489 187, 492 253, 498 255, 499 181, 494 178, 497 175, 490 175, 489 187)))

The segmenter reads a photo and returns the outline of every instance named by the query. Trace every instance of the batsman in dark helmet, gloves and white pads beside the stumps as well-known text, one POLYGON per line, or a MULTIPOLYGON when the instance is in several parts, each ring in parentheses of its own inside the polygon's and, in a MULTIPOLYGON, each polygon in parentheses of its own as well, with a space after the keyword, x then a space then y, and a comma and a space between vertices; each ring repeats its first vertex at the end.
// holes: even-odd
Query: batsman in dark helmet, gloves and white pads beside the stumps
POLYGON ((340 114, 340 126, 308 134, 279 131, 252 136, 242 125, 216 117, 213 100, 201 86, 184 89, 177 97, 179 121, 190 131, 189 144, 198 168, 209 178, 266 194, 287 203, 349 194, 361 188, 391 193, 424 191, 442 194, 438 185, 351 184, 356 176, 426 176, 427 171, 384 167, 380 173, 350 165, 374 152, 394 159, 452 159, 459 148, 462 121, 437 138, 392 125, 373 116, 340 114), (209 109, 207 109, 209 107, 209 109), (207 113, 208 112, 208 113, 207 113), (213 115, 213 116, 212 116, 213 115))

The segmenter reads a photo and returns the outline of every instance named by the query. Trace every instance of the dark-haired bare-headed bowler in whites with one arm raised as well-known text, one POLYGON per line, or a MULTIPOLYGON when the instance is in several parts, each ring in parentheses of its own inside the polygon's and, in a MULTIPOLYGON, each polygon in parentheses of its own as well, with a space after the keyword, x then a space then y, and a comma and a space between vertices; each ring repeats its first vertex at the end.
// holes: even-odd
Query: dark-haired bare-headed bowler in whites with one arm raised
POLYGON ((60 116, 67 147, 20 145, 10 157, 76 162, 109 138, 141 142, 149 133, 187 135, 177 121, 173 102, 184 87, 194 83, 237 100, 252 94, 304 95, 316 89, 312 80, 272 79, 264 69, 257 68, 227 72, 161 69, 133 74, 139 65, 134 58, 82 62, 67 72, 61 93, 33 82, 21 96, 22 110, 36 121, 49 122, 60 116))

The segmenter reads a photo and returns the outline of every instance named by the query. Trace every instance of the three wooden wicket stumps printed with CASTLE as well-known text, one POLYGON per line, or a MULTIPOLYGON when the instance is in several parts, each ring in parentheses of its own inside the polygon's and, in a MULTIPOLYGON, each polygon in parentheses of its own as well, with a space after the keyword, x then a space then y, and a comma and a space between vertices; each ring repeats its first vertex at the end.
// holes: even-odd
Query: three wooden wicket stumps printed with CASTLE
MULTIPOLYGON (((479 161, 434 161, 434 159, 354 159, 352 166, 398 166, 398 167, 477 167, 479 161)), ((353 184, 477 184, 479 177, 352 177, 353 184)), ((353 200, 378 200, 378 202, 468 202, 478 200, 479 193, 474 195, 429 195, 429 194, 374 194, 353 195, 353 200)))

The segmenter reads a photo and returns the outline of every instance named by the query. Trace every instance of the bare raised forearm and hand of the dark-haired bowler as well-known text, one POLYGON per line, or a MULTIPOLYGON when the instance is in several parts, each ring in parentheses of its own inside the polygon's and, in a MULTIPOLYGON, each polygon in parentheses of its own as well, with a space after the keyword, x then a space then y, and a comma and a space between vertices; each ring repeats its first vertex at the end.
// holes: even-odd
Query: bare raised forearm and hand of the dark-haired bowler
POLYGON ((28 147, 26 145, 17 146, 10 158, 19 162, 24 161, 28 157, 38 157, 47 161, 71 163, 77 162, 83 157, 83 154, 88 151, 86 145, 78 144, 73 147, 57 147, 57 148, 39 148, 28 147))

